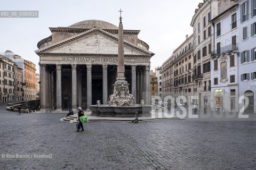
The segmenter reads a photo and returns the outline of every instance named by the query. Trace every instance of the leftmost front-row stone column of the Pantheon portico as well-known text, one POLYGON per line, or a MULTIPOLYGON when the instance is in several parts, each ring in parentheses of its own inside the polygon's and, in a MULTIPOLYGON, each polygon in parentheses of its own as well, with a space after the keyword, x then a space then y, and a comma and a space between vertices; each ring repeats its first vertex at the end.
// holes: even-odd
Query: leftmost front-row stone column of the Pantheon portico
POLYGON ((45 64, 39 64, 40 66, 40 107, 41 107, 41 112, 46 112, 46 91, 45 91, 45 64))

